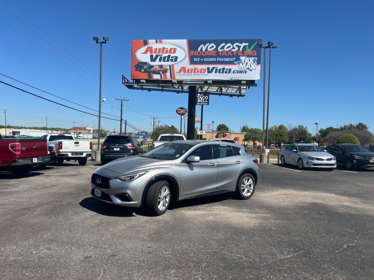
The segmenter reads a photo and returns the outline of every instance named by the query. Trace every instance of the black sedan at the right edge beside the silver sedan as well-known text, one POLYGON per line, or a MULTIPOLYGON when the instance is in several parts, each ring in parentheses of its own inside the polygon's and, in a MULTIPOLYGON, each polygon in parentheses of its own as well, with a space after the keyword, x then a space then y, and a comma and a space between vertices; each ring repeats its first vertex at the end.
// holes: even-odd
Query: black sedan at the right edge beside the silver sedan
POLYGON ((325 150, 335 156, 337 164, 347 170, 353 168, 374 167, 374 152, 357 144, 335 144, 325 147, 325 150))

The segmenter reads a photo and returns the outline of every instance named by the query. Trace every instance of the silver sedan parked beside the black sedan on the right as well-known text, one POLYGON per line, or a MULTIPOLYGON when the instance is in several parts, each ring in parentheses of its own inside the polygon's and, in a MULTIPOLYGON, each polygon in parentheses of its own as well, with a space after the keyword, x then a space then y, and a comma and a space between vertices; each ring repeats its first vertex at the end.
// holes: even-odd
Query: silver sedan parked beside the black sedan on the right
POLYGON ((336 168, 335 157, 313 144, 288 145, 281 150, 280 156, 282 165, 292 164, 299 169, 318 167, 334 170, 336 168))

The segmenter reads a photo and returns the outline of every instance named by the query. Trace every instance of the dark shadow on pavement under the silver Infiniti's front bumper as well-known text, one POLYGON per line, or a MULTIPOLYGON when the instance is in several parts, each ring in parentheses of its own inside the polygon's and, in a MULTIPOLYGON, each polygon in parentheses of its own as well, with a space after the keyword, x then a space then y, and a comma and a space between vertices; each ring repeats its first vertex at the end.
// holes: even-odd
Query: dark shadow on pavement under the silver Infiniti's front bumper
POLYGON ((123 207, 119 205, 114 205, 111 203, 101 202, 94 197, 86 197, 79 202, 79 205, 89 211, 96 212, 97 214, 110 216, 110 217, 136 217, 136 215, 151 217, 145 211, 144 208, 135 207, 123 207), (134 213, 136 215, 134 215, 134 213))

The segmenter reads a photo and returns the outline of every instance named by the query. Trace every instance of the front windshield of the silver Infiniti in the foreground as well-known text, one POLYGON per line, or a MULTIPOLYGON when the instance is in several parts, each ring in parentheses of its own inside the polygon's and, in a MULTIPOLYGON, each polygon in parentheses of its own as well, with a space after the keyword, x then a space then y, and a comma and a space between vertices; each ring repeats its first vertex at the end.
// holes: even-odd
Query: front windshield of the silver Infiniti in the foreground
POLYGON ((186 153, 192 146, 192 144, 165 143, 144 153, 142 157, 173 160, 186 153))

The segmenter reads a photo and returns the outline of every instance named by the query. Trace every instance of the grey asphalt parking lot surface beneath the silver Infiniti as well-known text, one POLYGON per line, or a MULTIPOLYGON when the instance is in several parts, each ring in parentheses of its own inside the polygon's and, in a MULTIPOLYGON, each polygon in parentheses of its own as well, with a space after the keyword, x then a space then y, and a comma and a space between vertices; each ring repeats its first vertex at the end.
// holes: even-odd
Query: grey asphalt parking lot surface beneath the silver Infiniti
POLYGON ((91 197, 98 165, 0 173, 1 279, 374 279, 374 170, 260 164, 249 200, 150 217, 91 197))

